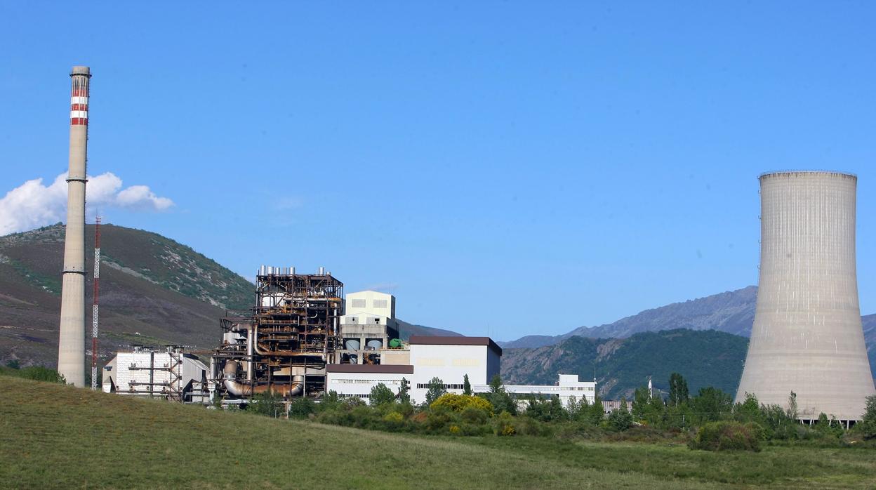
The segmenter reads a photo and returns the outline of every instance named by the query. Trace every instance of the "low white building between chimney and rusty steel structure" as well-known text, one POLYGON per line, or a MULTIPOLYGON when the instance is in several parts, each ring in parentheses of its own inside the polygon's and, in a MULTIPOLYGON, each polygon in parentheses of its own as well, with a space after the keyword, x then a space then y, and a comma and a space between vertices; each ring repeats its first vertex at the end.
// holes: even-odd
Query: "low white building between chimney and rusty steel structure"
POLYGON ((192 354, 135 345, 103 367, 103 391, 175 401, 208 401, 208 367, 192 354))

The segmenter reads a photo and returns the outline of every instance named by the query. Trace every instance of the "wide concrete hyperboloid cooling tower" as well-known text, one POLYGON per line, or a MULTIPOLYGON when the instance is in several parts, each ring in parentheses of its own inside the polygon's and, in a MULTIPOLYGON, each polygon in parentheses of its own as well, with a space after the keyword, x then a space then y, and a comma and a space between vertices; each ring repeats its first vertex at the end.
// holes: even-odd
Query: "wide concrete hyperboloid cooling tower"
POLYGON ((873 380, 858 309, 855 192, 837 172, 760 176, 760 280, 751 343, 736 394, 855 421, 873 380))

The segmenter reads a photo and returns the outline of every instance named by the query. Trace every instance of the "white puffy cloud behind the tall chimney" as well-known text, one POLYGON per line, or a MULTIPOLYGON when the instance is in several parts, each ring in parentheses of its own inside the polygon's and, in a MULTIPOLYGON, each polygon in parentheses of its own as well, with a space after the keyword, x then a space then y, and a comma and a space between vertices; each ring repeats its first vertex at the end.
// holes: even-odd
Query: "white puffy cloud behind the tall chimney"
MULTIPOLYGON (((33 179, 6 193, 0 199, 0 235, 63 221, 67 217, 66 179, 66 172, 48 186, 42 179, 33 179)), ((122 187, 122 179, 111 172, 89 175, 85 191, 87 216, 93 217, 96 209, 164 211, 173 206, 173 201, 155 195, 147 186, 122 187)))

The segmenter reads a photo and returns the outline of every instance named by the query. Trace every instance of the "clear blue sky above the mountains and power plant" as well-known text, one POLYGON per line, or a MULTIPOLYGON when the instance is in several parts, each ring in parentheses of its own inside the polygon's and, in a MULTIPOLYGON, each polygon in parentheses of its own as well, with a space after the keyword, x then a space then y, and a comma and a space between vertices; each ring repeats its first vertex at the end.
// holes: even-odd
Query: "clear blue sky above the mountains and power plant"
MULTIPOLYGON (((106 220, 251 277, 326 266, 409 322, 510 340, 757 282, 757 175, 858 174, 876 312, 876 6, 5 3, 4 186, 173 200, 106 220)), ((108 251, 109 252, 109 251, 108 251)))

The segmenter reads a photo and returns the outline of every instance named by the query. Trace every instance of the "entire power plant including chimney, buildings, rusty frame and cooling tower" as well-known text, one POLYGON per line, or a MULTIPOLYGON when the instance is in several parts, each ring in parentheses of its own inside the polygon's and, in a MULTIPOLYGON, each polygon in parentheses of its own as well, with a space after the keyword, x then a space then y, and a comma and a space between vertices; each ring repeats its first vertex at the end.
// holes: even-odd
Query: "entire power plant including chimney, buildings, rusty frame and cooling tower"
MULTIPOLYGON (((67 225, 61 286, 58 371, 85 385, 85 193, 90 70, 73 67, 67 225)), ((759 176, 759 292, 737 401, 788 407, 797 417, 824 413, 850 423, 876 394, 858 307, 855 257, 857 177, 840 172, 788 171, 759 176)), ((92 382, 96 387, 99 234, 95 238, 92 382)), ((385 382, 410 386, 423 399, 429 380, 463 378, 477 389, 499 372, 502 350, 489 337, 399 335, 395 298, 361 291, 346 300, 343 283, 320 267, 261 266, 251 309, 221 319, 221 344, 207 367, 171 346, 136 348, 104 367, 104 390, 178 401, 246 403, 257 394, 319 397, 330 390, 367 397, 385 382), (147 360, 148 359, 148 360, 147 360), (413 381, 413 382, 412 382, 413 381)), ((557 390, 595 394, 595 383, 562 375, 557 390), (592 385, 592 386, 591 386, 592 385), (562 389, 561 389, 562 388, 562 389)), ((552 388, 553 389, 553 388, 552 388)), ((557 391, 555 390, 555 391, 557 391)), ((514 393, 548 393, 514 387, 514 393)), ((568 392, 568 393, 567 393, 568 392)))

